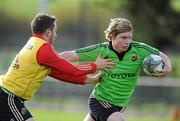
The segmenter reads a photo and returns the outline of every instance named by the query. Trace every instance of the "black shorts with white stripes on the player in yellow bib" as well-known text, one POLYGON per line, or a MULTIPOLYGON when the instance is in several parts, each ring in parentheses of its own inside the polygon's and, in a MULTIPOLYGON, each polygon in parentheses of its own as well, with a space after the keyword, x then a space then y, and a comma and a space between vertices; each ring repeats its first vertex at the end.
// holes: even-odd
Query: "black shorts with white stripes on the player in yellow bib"
POLYGON ((31 117, 23 99, 0 87, 0 121, 25 121, 31 117))

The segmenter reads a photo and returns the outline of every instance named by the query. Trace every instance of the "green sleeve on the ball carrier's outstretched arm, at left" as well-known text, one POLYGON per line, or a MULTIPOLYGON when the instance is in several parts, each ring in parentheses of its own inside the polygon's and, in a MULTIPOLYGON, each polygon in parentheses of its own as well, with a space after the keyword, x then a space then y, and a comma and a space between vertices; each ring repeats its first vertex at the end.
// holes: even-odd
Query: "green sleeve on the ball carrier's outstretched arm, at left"
POLYGON ((102 45, 96 44, 76 49, 75 52, 79 56, 80 61, 95 61, 101 50, 102 45))

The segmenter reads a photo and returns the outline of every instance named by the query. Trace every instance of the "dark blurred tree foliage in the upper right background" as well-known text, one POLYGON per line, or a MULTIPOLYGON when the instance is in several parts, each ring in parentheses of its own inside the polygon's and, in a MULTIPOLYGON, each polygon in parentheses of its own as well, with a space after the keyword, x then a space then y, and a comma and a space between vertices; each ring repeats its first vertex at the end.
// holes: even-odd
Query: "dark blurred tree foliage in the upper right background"
MULTIPOLYGON (((128 11, 134 18, 144 21, 145 29, 150 29, 152 39, 161 49, 178 45, 180 34, 180 13, 175 11, 170 0, 128 0, 128 11)), ((138 21, 137 21, 138 22, 138 21)), ((177 47, 177 46, 176 46, 177 47)))

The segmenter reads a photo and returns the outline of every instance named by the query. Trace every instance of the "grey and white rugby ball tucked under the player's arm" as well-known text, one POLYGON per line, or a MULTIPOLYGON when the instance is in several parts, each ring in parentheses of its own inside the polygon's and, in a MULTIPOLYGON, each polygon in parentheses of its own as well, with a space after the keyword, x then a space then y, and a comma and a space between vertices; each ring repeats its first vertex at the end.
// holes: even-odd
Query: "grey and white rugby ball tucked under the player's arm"
POLYGON ((152 54, 143 60, 142 68, 143 71, 149 75, 160 73, 164 68, 164 63, 159 55, 152 54))

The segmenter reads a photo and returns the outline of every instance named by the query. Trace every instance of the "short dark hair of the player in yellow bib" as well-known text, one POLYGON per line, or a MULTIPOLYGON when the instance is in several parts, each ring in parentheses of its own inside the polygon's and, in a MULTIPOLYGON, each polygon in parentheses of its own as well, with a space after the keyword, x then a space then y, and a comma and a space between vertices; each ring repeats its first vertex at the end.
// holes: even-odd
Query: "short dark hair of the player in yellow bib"
POLYGON ((46 29, 54 28, 55 21, 55 16, 49 16, 43 13, 39 13, 31 21, 31 31, 33 34, 43 34, 46 29))

